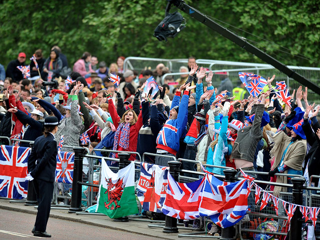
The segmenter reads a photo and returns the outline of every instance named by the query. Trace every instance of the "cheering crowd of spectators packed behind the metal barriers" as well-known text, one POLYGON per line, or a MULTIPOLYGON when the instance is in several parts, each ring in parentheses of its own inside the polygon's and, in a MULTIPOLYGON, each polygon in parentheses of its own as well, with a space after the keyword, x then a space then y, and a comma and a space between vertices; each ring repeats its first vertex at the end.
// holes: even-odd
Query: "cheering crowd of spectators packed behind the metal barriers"
MULTIPOLYGON (((17 69, 26 64, 25 53, 9 63, 5 76, 0 68, 0 136, 21 134, 21 139, 33 141, 43 134, 44 119, 56 116, 55 140, 59 144, 63 137, 62 151, 73 151, 64 145, 93 149, 99 144, 141 156, 156 153, 146 155, 145 161, 158 165, 166 166, 171 160, 168 156, 175 156, 212 165, 206 169, 219 175, 223 168, 214 166, 269 172, 261 178, 282 183, 291 178, 275 177, 275 173, 306 178, 320 174, 320 106, 308 103, 307 89, 296 89, 289 106, 275 95, 275 76, 268 78, 267 91, 253 97, 243 86, 233 88, 224 72, 216 73, 220 84, 213 86, 214 74, 198 68, 194 57, 180 67, 177 81, 167 76, 162 82, 162 76, 169 73, 164 64, 154 70, 124 71, 124 57, 108 68, 106 62, 85 52, 71 71, 58 46, 47 59, 41 50, 35 56, 39 69, 31 61, 29 79, 17 69), (66 74, 71 83, 66 83, 66 74), (119 86, 110 79, 112 75, 120 77, 119 86), (154 97, 144 92, 151 76, 159 85, 154 97), (88 141, 80 139, 83 133, 88 134, 88 141)), ((5 139, 1 141, 6 144, 5 139)), ((134 159, 139 157, 131 154, 129 160, 134 159)), ((190 161, 183 161, 181 168, 201 171, 190 161)), ((191 172, 184 175, 198 177, 191 172)), ((314 179, 313 184, 317 183, 314 179)), ((286 191, 275 187, 274 193, 280 190, 286 191)))

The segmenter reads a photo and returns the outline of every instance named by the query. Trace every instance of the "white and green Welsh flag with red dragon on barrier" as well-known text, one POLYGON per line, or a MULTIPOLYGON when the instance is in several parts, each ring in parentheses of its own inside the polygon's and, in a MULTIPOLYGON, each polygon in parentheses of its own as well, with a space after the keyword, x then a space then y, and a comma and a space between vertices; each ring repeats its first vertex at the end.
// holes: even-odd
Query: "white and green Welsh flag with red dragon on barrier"
POLYGON ((114 173, 106 161, 101 161, 101 183, 96 212, 118 218, 138 213, 134 193, 134 162, 114 173))

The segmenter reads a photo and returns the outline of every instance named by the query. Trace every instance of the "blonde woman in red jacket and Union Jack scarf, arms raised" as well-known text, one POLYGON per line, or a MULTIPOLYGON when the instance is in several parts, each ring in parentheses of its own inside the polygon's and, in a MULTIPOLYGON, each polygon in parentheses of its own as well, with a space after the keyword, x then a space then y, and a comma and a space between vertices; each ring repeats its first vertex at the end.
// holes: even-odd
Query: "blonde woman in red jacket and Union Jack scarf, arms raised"
MULTIPOLYGON (((110 90, 107 91, 107 98, 109 103, 109 113, 113 124, 117 129, 114 138, 113 150, 136 152, 138 133, 142 127, 142 112, 137 116, 137 114, 130 109, 127 110, 120 119, 115 105, 113 104, 110 90)), ((117 157, 117 154, 113 153, 112 157, 117 157)), ((131 154, 129 160, 133 161, 135 157, 135 154, 131 154)))

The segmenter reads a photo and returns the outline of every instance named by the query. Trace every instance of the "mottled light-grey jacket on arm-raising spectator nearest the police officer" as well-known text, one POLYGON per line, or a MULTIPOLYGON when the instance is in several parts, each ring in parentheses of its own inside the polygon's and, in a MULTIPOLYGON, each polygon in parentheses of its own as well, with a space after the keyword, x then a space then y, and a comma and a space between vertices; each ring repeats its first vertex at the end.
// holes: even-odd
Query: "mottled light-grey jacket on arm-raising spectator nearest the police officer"
POLYGON ((60 125, 58 127, 58 132, 55 134, 56 141, 59 145, 60 138, 64 136, 64 143, 61 151, 73 152, 72 148, 64 147, 73 146, 79 147, 79 138, 82 129, 84 129, 84 125, 82 122, 82 118, 78 113, 78 100, 73 100, 71 98, 68 99, 67 105, 71 104, 71 117, 64 118, 61 120, 60 125))

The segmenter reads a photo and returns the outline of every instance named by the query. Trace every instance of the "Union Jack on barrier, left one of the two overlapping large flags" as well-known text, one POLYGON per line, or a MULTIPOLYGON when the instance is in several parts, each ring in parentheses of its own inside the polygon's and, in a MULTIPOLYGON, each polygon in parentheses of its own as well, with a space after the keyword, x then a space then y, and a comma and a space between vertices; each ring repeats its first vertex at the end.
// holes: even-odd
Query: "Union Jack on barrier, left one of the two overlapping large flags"
POLYGON ((199 204, 205 178, 194 182, 176 182, 168 173, 168 189, 162 212, 179 219, 199 217, 199 204))

